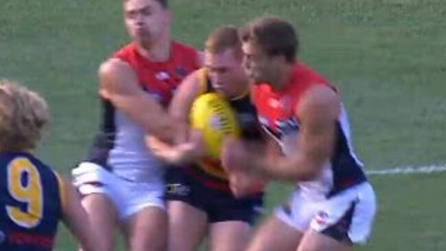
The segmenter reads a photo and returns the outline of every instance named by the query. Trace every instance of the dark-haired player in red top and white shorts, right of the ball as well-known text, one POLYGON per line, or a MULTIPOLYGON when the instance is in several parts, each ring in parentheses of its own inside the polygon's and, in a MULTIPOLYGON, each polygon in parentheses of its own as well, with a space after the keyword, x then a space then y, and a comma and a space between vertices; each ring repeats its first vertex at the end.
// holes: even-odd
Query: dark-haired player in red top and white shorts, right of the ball
MULTIPOLYGON (((353 153, 338 92, 296 61, 298 40, 290 23, 260 18, 241 36, 259 122, 284 155, 259 155, 231 139, 224 144, 223 165, 239 176, 297 183, 290 201, 259 228, 248 250, 351 250, 364 243, 375 194, 353 153)), ((231 179, 231 186, 243 189, 244 182, 231 179)))

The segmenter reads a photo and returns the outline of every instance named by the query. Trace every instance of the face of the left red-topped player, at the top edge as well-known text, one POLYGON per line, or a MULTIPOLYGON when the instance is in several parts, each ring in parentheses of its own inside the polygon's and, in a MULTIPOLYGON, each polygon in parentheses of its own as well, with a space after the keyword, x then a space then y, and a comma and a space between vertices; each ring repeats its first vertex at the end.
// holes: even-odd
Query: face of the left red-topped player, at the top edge
POLYGON ((124 21, 134 42, 143 45, 156 43, 170 25, 170 13, 155 0, 128 0, 124 2, 124 21))

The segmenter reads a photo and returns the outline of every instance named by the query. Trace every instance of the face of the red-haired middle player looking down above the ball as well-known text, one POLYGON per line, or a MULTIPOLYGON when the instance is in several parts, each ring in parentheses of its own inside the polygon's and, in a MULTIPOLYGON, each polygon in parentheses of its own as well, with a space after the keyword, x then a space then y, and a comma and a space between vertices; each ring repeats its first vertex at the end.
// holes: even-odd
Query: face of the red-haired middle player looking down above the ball
POLYGON ((216 54, 205 51, 204 66, 216 92, 231 98, 246 91, 248 79, 242 67, 242 60, 235 55, 233 49, 216 54))

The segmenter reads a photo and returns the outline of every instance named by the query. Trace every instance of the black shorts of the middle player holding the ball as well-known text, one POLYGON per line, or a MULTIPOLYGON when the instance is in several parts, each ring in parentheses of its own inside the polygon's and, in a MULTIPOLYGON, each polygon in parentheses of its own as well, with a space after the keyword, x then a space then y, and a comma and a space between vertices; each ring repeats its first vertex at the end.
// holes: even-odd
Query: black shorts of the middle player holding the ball
POLYGON ((197 175, 191 169, 168 168, 166 200, 180 200, 203 211, 209 223, 237 220, 254 224, 263 210, 263 193, 235 198, 228 187, 211 187, 204 182, 207 178, 197 175))

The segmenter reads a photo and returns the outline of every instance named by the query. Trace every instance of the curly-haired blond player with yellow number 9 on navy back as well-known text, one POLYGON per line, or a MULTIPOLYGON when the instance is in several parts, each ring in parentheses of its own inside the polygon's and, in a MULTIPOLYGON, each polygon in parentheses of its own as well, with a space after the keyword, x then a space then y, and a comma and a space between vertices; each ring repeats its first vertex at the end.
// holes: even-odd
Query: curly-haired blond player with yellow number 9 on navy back
POLYGON ((0 81, 0 250, 52 250, 60 220, 85 250, 104 250, 74 187, 32 154, 48 119, 36 92, 0 81))

